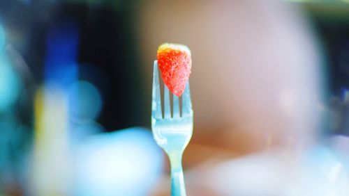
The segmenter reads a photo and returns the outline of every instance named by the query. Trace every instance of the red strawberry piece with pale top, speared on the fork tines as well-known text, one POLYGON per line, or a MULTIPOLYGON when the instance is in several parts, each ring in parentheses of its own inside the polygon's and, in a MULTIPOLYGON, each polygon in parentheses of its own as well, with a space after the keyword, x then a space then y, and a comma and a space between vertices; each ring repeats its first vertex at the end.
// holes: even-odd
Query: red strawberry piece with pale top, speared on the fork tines
POLYGON ((163 83, 178 97, 184 92, 191 74, 191 51, 181 44, 161 44, 158 47, 158 68, 163 83))

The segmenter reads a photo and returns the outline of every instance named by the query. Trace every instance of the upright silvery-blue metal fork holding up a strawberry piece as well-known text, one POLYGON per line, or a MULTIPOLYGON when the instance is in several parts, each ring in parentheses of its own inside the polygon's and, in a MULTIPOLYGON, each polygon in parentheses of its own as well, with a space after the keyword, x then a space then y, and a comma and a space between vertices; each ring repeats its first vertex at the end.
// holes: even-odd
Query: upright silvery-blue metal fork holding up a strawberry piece
POLYGON ((193 109, 191 106, 191 92, 189 82, 181 96, 181 111, 179 97, 173 95, 171 115, 170 94, 164 85, 163 114, 161 109, 161 92, 158 76, 158 61, 154 61, 153 99, 151 101, 151 130, 156 143, 163 148, 170 158, 171 165, 171 195, 186 195, 181 157, 193 135, 193 109))

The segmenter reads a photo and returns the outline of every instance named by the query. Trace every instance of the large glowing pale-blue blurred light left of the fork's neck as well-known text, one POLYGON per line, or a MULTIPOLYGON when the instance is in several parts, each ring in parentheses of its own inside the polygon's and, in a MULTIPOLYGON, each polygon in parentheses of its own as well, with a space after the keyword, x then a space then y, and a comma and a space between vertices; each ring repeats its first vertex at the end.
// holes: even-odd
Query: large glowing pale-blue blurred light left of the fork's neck
POLYGON ((142 128, 94 136, 78 155, 75 195, 148 195, 163 168, 161 149, 142 128))

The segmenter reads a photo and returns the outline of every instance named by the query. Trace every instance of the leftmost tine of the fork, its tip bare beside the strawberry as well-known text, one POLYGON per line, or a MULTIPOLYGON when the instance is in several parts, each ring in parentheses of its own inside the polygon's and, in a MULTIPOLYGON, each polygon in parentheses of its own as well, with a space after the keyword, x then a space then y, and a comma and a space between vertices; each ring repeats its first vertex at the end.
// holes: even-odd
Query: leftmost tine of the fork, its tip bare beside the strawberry
POLYGON ((151 116, 160 119, 161 114, 161 95, 160 83, 158 80, 158 60, 154 60, 153 68, 153 100, 151 101, 151 116))

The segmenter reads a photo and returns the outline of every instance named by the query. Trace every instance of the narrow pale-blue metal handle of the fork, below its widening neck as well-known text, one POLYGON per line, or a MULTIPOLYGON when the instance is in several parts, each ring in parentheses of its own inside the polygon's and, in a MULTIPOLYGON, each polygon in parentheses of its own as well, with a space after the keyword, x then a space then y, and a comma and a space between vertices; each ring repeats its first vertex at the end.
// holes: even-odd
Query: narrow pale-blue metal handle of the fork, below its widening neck
POLYGON ((183 169, 180 156, 170 156, 171 163, 171 196, 186 196, 183 169))

